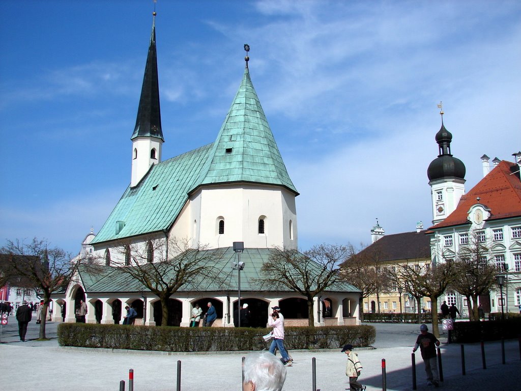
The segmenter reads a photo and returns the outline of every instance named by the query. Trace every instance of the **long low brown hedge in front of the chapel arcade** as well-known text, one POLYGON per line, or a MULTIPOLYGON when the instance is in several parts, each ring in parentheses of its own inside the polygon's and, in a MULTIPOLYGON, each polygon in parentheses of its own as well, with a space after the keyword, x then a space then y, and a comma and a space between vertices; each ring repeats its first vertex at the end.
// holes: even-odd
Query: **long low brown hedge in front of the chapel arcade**
MULTIPOLYGON (((158 350, 176 352, 262 350, 268 328, 123 326, 61 323, 60 346, 158 350)), ((286 327, 287 349, 331 349, 345 344, 362 347, 375 342, 373 326, 286 327)))

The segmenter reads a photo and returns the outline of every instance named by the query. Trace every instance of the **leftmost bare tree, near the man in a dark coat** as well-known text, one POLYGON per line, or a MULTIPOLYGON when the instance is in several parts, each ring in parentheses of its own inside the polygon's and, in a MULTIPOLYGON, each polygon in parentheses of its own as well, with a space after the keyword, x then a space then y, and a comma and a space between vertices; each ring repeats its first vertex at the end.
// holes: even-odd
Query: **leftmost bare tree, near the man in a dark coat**
POLYGON ((67 288, 75 267, 70 262, 71 255, 58 247, 48 248, 46 240, 36 238, 30 243, 8 240, 0 252, 4 259, 4 273, 9 278, 26 278, 43 296, 40 339, 46 339, 45 320, 51 295, 67 288))

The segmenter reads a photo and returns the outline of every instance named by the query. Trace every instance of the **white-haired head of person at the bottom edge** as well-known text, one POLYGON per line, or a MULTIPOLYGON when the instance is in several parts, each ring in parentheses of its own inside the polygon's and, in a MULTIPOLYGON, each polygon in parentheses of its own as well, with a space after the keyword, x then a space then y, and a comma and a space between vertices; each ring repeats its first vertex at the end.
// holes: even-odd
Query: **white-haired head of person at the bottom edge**
POLYGON ((244 391, 280 391, 286 368, 269 352, 252 353, 244 360, 244 391))

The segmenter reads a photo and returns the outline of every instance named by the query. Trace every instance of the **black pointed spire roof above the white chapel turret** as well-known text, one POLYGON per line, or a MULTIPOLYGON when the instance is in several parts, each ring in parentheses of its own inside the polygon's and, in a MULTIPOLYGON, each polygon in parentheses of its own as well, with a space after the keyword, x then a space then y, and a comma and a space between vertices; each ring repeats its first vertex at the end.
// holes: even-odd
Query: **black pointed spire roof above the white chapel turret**
POLYGON ((137 137, 157 137, 163 141, 161 129, 161 111, 159 109, 159 81, 157 77, 156 53, 156 13, 153 13, 152 35, 148 56, 146 57, 145 76, 138 108, 138 118, 135 121, 131 140, 137 137))

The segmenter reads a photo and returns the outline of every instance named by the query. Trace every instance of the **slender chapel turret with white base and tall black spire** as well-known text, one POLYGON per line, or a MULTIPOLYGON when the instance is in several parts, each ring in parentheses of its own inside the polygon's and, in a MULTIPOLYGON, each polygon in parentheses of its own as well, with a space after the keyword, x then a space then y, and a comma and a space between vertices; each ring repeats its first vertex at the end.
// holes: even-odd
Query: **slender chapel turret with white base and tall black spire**
POLYGON ((150 166, 161 163, 162 146, 165 142, 161 129, 159 109, 159 81, 157 77, 156 11, 152 21, 152 34, 146 57, 145 76, 141 88, 138 118, 132 133, 132 176, 130 186, 139 184, 150 166))

